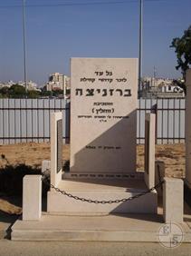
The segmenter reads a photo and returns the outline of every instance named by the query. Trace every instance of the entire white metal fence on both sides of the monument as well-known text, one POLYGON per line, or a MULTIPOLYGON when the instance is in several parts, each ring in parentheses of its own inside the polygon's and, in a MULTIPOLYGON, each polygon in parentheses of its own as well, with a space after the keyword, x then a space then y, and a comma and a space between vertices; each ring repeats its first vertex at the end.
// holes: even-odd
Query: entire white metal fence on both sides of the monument
MULTIPOLYGON (((138 100, 137 143, 144 143, 145 113, 156 105, 157 143, 185 142, 185 99, 138 100)), ((62 99, 0 99, 0 144, 48 142, 50 116, 63 113, 63 141, 70 139, 70 103, 62 99)))

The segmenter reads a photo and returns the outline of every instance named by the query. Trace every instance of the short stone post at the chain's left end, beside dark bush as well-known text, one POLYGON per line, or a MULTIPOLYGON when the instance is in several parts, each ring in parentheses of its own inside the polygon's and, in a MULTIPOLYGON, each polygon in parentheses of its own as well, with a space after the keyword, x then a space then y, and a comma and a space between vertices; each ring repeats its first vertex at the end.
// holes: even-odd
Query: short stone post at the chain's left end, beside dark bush
POLYGON ((23 182, 23 221, 39 221, 42 216, 42 176, 25 175, 23 182))

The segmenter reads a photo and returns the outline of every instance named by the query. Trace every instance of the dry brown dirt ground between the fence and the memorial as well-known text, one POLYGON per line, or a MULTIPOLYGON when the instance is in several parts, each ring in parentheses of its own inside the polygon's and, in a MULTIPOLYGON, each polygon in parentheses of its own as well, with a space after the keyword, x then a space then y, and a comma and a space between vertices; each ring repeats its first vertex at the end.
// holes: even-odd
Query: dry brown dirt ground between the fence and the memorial
MULTIPOLYGON (((70 159, 70 145, 63 145, 63 161, 70 159)), ((6 164, 24 163, 41 167, 43 160, 50 160, 50 143, 18 143, 0 145, 0 170, 6 164)), ((156 145, 156 160, 164 161, 166 176, 182 178, 185 176, 185 144, 156 145)), ((137 147, 137 170, 144 170, 144 146, 137 147)), ((20 214, 21 198, 7 198, 0 194, 0 213, 20 214)))

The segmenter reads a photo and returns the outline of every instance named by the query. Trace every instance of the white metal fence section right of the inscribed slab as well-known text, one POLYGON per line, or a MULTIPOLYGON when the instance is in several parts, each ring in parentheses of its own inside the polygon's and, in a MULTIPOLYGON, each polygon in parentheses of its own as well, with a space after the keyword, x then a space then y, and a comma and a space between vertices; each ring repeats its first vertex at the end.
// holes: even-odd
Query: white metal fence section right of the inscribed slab
POLYGON ((185 99, 138 100, 137 143, 145 142, 145 113, 157 113, 156 137, 158 144, 185 143, 185 99))

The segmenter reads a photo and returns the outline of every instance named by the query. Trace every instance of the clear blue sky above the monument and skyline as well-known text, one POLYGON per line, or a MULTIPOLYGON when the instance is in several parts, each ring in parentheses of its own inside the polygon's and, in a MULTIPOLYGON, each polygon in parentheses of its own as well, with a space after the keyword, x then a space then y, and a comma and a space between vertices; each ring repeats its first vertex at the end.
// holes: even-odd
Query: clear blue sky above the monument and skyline
MULTIPOLYGON (((155 65, 158 77, 177 78, 169 45, 191 25, 191 0, 143 1, 143 75, 155 65)), ((24 80, 19 5, 0 0, 0 81, 24 80)), ((138 57, 138 12, 138 0, 26 0, 28 79, 70 74, 71 57, 138 57)))

